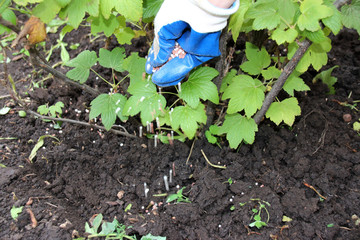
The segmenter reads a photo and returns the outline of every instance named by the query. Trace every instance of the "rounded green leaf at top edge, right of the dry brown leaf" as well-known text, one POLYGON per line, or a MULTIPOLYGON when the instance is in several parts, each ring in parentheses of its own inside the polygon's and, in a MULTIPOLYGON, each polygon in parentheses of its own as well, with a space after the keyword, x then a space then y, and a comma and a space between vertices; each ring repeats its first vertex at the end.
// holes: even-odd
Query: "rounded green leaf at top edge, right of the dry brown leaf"
POLYGON ((49 23, 59 13, 61 6, 55 0, 46 0, 33 9, 33 15, 37 16, 44 23, 49 23))

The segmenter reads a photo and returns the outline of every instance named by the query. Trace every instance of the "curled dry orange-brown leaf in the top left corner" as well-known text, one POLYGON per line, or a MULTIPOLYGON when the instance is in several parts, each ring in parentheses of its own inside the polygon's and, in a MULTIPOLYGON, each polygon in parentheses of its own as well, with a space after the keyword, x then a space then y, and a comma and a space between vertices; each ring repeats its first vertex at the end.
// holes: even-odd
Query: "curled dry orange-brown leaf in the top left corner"
POLYGON ((12 42, 11 47, 14 48, 19 43, 20 39, 28 36, 28 47, 36 43, 45 41, 46 29, 45 24, 37 17, 31 16, 30 19, 25 23, 23 29, 12 42))

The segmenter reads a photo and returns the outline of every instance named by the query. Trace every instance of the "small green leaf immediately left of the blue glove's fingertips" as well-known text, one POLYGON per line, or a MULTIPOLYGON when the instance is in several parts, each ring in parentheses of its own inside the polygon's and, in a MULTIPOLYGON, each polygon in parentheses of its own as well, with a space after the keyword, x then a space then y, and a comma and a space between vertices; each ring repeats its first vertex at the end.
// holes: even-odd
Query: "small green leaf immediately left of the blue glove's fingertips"
POLYGON ((139 81, 143 78, 145 63, 146 59, 139 57, 138 53, 131 53, 129 57, 125 58, 123 68, 129 72, 131 81, 139 81))

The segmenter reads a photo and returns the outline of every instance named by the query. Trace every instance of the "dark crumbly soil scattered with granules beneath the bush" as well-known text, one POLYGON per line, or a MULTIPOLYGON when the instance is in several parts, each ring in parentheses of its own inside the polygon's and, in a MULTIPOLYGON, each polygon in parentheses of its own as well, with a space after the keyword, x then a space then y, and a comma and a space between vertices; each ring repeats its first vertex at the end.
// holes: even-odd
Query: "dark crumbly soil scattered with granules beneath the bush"
MULTIPOLYGON (((67 41, 78 39, 89 49, 103 44, 91 45, 86 37, 71 35, 67 41)), ((304 77, 312 91, 298 94, 302 115, 294 126, 277 127, 264 121, 255 143, 242 145, 238 151, 197 140, 190 155, 192 142, 155 148, 146 138, 126 138, 68 123, 60 132, 29 115, 20 118, 19 108, 1 89, 0 95, 5 97, 0 106, 9 105, 12 111, 0 116, 0 137, 16 140, 0 140, 0 163, 6 165, 0 168, 0 239, 71 239, 76 232, 84 236, 85 223, 99 213, 107 221, 117 218, 132 226, 128 233, 137 237, 152 233, 170 240, 360 239, 360 227, 352 219, 360 216, 360 137, 352 128, 360 114, 342 104, 360 99, 358 39, 353 31, 334 37, 327 68, 339 65, 334 70, 338 78, 335 95, 327 95, 321 82, 312 83, 314 73, 308 73, 304 77), (352 120, 345 122, 344 114, 350 114, 352 120), (38 138, 47 134, 54 134, 60 143, 45 139, 30 164, 31 150, 38 138), (227 168, 209 166, 201 150, 213 164, 227 168), (166 204, 166 197, 154 196, 166 193, 163 176, 169 175, 170 169, 174 176, 169 193, 186 187, 184 195, 191 203, 166 204), (144 183, 150 189, 148 198, 144 183), (124 194, 119 198, 118 193, 124 194), (29 199, 32 203, 26 205, 29 199), (157 207, 149 206, 151 201, 157 207), (270 204, 265 204, 269 222, 260 230, 250 228, 252 209, 262 201, 270 204), (129 204, 132 207, 125 212, 129 204), (12 206, 25 206, 17 221, 10 216, 12 206), (25 209, 34 213, 37 227, 31 227, 25 209), (284 216, 292 221, 282 221, 284 216)), ((132 47, 141 55, 147 50, 146 46, 132 47)), ((84 47, 71 56, 81 50, 84 47)), ((55 59, 58 54, 55 51, 55 59)), ((28 76, 34 73, 27 58, 8 67, 23 91, 31 87, 31 80, 46 76, 28 76)), ((89 84, 99 83, 91 76, 89 84)), ((62 101, 67 110, 64 118, 88 121, 85 107, 92 99, 86 93, 48 80, 44 88, 29 94, 33 110, 62 101)), ((137 132, 134 123, 124 126, 137 132)), ((264 210, 261 216, 267 220, 264 210)))

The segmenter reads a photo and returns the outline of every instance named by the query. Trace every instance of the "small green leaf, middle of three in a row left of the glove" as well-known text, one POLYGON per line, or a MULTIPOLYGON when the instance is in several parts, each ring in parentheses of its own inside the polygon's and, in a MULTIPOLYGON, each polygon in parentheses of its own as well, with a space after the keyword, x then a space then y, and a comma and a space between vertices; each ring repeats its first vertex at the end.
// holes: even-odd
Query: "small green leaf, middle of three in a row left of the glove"
POLYGON ((125 71, 123 68, 125 56, 125 48, 116 47, 111 52, 105 48, 100 48, 99 63, 103 67, 123 72, 125 71))

